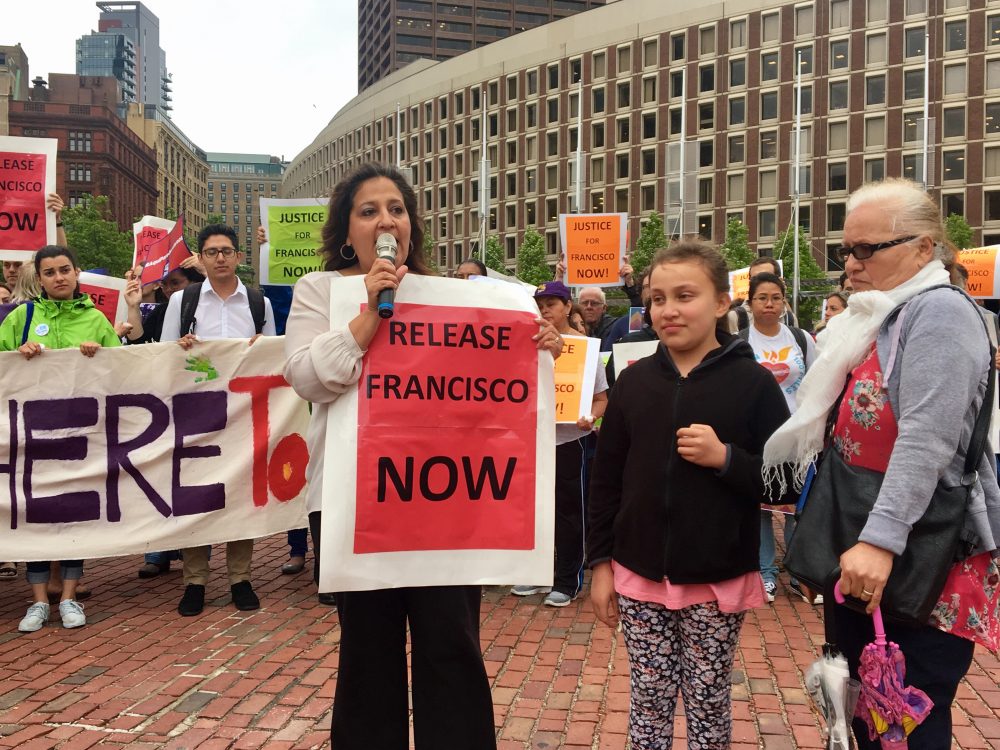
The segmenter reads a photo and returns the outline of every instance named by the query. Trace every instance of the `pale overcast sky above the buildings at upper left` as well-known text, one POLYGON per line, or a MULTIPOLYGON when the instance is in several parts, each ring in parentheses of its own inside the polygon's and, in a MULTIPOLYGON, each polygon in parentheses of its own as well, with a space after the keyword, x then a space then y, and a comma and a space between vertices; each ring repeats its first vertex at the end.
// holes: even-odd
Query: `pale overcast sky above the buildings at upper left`
MULTIPOLYGON (((291 160, 357 93, 356 0, 144 0, 160 19, 173 120, 205 151, 291 160)), ((93 0, 3 0, 0 45, 32 78, 76 72, 93 0)))

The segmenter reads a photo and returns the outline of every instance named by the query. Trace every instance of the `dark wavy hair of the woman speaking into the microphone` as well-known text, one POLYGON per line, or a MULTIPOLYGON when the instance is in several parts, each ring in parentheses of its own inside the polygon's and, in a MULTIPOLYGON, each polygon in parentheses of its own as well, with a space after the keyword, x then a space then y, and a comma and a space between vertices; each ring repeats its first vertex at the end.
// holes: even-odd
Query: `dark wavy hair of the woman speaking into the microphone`
POLYGON ((403 206, 410 218, 410 247, 407 248, 406 265, 410 273, 426 276, 430 271, 424 258, 424 221, 417 210, 417 194, 396 167, 372 161, 362 164, 344 177, 330 193, 330 209, 323 225, 323 245, 319 249, 324 260, 323 268, 326 271, 342 271, 358 264, 356 255, 347 260, 341 255, 340 249, 347 243, 351 209, 354 208, 354 197, 358 189, 368 180, 379 177, 392 180, 403 196, 403 206))

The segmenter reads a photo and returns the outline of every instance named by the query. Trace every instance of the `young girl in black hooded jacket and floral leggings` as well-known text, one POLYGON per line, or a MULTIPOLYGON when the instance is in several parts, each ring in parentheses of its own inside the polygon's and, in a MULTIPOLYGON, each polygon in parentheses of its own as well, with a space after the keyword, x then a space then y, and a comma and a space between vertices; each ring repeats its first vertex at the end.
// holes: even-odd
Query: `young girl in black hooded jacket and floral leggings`
POLYGON ((729 675, 757 572, 761 451, 788 418, 749 345, 721 331, 722 256, 700 239, 659 251, 650 278, 656 354, 622 372, 590 488, 591 601, 621 621, 634 750, 670 748, 677 690, 688 747, 727 748, 729 675))

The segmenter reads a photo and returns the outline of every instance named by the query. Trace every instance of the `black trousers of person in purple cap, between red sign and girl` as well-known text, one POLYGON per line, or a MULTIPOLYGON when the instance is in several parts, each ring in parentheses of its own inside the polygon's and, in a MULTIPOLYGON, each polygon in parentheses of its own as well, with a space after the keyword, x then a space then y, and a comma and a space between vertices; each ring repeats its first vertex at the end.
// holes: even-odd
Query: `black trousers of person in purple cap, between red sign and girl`
POLYGON ((584 444, 556 446, 556 565, 552 588, 576 596, 583 583, 584 444))

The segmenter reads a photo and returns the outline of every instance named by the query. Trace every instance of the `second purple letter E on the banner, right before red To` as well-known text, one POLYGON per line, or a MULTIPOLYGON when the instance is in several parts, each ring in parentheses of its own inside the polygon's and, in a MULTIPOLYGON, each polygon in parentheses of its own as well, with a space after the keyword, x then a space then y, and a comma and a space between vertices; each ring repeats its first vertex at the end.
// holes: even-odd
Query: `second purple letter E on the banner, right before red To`
POLYGON ((184 446, 184 438, 225 429, 228 397, 225 391, 179 393, 173 399, 174 472, 172 505, 175 516, 193 516, 226 507, 226 486, 215 484, 181 485, 181 461, 185 458, 221 456, 218 445, 184 446))

